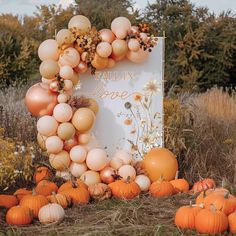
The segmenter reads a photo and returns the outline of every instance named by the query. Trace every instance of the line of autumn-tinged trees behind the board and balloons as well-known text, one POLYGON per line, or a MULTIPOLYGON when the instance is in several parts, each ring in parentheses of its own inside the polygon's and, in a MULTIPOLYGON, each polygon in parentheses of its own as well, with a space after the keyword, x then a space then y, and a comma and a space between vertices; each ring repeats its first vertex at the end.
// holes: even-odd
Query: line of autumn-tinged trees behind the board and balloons
POLYGON ((166 92, 205 91, 236 85, 236 19, 216 16, 188 0, 156 0, 137 10, 132 0, 76 0, 62 9, 41 5, 33 16, 0 15, 0 88, 22 86, 38 72, 37 47, 67 27, 72 15, 86 15, 97 29, 110 27, 117 16, 149 23, 166 36, 166 92))

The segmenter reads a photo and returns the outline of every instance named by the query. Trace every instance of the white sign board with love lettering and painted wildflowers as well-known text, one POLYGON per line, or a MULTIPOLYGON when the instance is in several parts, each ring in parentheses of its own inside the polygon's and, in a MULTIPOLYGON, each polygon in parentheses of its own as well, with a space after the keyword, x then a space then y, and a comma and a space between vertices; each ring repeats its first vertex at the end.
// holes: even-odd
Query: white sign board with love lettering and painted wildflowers
POLYGON ((163 145, 164 38, 135 64, 128 60, 114 68, 81 76, 77 95, 94 98, 100 106, 93 133, 110 157, 125 149, 137 158, 163 145))

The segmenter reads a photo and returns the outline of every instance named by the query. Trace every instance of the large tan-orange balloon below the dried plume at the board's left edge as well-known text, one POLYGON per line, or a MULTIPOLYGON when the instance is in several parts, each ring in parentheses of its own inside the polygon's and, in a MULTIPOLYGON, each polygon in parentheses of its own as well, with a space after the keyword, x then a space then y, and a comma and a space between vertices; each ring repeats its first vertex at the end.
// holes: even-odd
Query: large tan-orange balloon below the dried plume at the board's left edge
POLYGON ((95 115, 89 108, 79 108, 72 117, 72 124, 80 133, 89 131, 94 124, 95 115))

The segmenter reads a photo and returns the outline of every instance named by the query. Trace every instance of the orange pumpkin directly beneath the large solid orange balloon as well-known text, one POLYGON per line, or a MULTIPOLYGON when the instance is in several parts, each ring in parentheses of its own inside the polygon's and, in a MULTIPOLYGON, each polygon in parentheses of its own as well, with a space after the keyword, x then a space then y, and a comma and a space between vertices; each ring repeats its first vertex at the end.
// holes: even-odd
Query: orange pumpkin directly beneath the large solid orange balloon
POLYGON ((153 182, 149 188, 149 191, 153 197, 166 197, 175 193, 173 185, 162 179, 153 182))

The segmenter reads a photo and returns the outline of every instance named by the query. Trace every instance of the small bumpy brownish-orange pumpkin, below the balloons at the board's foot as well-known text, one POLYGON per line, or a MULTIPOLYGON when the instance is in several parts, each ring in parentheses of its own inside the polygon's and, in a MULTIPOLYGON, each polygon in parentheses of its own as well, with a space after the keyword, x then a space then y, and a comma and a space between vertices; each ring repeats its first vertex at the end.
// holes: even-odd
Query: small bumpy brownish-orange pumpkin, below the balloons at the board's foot
POLYGON ((94 200, 103 201, 105 199, 111 198, 111 189, 107 184, 97 183, 90 185, 88 187, 88 191, 94 200))

